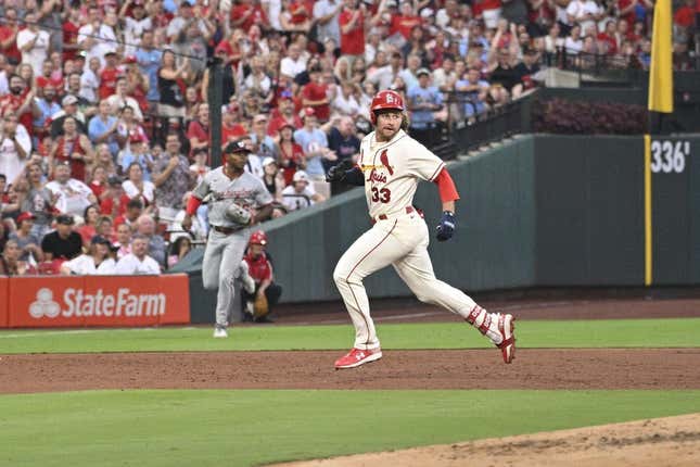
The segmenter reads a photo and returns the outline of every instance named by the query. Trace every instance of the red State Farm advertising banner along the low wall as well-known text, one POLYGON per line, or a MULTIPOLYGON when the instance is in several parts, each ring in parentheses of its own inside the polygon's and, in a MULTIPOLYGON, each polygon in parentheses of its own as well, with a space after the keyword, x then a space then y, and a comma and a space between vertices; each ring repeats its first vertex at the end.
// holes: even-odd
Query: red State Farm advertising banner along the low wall
POLYGON ((8 326, 131 327, 190 323, 187 275, 13 277, 8 326))

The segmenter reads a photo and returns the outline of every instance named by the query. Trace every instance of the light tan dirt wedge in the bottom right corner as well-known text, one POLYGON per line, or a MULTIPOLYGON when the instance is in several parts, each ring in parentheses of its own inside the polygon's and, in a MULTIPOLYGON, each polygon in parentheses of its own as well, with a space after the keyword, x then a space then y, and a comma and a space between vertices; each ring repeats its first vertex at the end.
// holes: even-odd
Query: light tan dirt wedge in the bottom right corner
POLYGON ((700 414, 280 464, 277 467, 381 465, 697 467, 700 465, 700 414))

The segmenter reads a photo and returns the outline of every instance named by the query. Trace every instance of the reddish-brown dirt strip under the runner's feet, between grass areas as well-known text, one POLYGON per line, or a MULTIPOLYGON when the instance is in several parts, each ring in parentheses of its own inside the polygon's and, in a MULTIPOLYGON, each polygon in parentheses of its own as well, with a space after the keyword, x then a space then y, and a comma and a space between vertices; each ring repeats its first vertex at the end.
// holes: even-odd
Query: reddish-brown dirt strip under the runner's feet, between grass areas
POLYGON ((90 389, 700 389, 700 349, 385 351, 335 370, 339 351, 0 355, 0 393, 90 389), (601 377, 604 375, 604 377, 601 377))

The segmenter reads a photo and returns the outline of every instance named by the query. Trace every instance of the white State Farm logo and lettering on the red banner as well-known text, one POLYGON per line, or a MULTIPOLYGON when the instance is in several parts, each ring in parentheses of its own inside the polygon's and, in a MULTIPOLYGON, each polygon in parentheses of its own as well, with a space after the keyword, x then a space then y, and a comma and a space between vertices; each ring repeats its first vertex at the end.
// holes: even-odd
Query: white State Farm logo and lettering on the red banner
POLYGON ((63 304, 53 300, 51 289, 37 291, 37 300, 29 305, 29 315, 39 319, 55 318, 59 315, 74 316, 158 316, 165 315, 166 295, 164 293, 131 293, 126 288, 116 293, 105 293, 98 289, 85 293, 82 289, 67 288, 63 291, 63 304))

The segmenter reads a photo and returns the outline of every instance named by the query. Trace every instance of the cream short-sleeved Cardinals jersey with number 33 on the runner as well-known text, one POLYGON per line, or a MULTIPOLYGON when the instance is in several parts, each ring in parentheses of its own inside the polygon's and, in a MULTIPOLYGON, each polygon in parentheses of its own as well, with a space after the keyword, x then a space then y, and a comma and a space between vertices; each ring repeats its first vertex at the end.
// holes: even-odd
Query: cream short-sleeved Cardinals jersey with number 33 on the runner
POLYGON ((445 163, 404 130, 387 142, 378 142, 374 131, 360 144, 357 165, 365 176, 369 215, 391 215, 413 204, 420 180, 432 181, 445 163))

